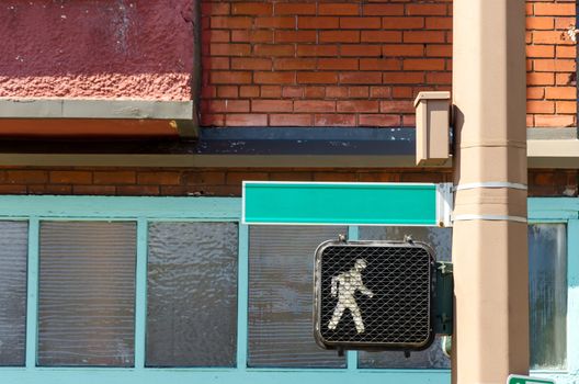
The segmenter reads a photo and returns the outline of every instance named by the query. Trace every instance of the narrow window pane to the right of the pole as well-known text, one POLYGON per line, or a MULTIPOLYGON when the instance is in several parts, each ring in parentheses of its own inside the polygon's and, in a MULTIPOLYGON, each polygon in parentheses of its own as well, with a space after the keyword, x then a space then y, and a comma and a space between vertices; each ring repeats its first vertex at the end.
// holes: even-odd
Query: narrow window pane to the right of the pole
POLYGON ((529 226, 531 368, 565 369, 567 236, 564 224, 529 226))

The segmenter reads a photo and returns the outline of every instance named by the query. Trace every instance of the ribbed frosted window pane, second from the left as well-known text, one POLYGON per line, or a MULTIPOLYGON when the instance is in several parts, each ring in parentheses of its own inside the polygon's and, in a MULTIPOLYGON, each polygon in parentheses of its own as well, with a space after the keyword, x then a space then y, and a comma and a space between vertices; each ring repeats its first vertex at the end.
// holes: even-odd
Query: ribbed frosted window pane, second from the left
POLYGON ((134 364, 135 259, 135 223, 41 223, 39 365, 134 364))

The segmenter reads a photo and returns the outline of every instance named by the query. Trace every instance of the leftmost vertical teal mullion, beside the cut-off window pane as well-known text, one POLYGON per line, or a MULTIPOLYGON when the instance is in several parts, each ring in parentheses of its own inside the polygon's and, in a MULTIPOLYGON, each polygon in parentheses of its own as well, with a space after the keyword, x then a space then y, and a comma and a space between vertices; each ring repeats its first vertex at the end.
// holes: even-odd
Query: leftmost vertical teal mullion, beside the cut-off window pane
POLYGON ((36 366, 38 350, 39 221, 29 219, 29 262, 26 298, 26 368, 36 366))

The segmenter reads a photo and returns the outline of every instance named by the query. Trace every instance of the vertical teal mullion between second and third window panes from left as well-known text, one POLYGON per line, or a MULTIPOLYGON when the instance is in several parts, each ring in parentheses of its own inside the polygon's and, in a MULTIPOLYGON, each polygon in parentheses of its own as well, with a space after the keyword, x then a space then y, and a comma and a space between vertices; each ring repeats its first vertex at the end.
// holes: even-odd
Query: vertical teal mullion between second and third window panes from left
POLYGON ((147 328, 147 230, 146 218, 137 221, 137 262, 135 276, 135 368, 145 368, 147 328))

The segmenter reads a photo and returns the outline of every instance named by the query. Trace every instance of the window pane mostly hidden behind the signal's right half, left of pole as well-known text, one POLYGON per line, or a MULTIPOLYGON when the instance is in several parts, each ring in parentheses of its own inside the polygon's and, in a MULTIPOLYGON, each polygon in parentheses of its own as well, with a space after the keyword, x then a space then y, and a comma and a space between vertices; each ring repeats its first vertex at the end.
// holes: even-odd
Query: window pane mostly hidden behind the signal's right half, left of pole
MULTIPOLYGON (((434 249, 436 260, 450 261, 452 248, 451 228, 431 227, 361 227, 361 240, 404 240, 411 235, 416 241, 423 241, 434 249)), ((405 358, 402 352, 363 352, 359 353, 361 368, 406 368, 406 369, 450 369, 451 361, 441 349, 441 338, 436 337, 429 349, 412 352, 405 358)))

